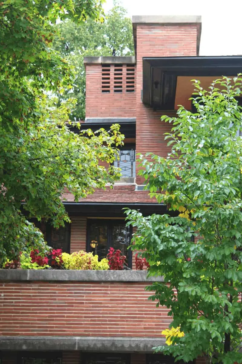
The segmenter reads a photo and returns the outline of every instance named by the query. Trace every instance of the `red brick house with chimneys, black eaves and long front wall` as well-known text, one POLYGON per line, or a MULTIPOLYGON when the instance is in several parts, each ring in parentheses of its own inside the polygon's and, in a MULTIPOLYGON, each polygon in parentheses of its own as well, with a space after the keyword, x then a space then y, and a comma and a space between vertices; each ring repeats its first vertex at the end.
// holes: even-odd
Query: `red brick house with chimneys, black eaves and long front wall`
MULTIPOLYGON (((49 245, 66 252, 91 251, 91 240, 99 242, 100 257, 110 246, 119 248, 135 269, 123 207, 146 215, 167 211, 143 190, 135 155, 165 156, 163 134, 171 126, 160 116, 176 115, 178 104, 191 109, 190 80, 199 78, 208 87, 221 75, 237 75, 242 57, 199 57, 200 16, 135 16, 132 22, 134 57, 84 60, 83 126, 120 124, 125 143, 115 163, 122 178, 114 189, 107 186, 79 202, 66 191, 71 224, 59 230, 39 227, 49 245)), ((166 308, 147 300, 144 288, 152 278, 144 271, 1 270, 0 281, 1 364, 173 363, 152 354, 153 346, 164 343, 161 330, 170 319, 166 308)))

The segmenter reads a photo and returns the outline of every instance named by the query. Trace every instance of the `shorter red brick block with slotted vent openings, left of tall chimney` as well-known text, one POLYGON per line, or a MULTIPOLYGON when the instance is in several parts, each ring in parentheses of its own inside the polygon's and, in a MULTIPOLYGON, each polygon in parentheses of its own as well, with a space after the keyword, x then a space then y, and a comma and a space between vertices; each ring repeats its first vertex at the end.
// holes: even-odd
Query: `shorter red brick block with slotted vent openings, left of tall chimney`
POLYGON ((110 92, 102 92, 102 65, 86 64, 86 118, 135 117, 136 92, 126 92, 126 65, 123 65, 123 92, 114 92, 114 65, 110 69, 110 92))

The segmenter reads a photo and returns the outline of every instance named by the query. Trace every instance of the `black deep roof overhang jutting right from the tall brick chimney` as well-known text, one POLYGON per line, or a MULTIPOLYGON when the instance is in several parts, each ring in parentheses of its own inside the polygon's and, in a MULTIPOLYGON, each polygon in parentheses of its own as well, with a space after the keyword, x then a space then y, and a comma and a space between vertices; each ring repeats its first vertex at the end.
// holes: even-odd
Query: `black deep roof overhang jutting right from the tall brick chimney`
POLYGON ((220 78, 242 72, 242 56, 143 57, 143 103, 174 110, 177 78, 220 78))

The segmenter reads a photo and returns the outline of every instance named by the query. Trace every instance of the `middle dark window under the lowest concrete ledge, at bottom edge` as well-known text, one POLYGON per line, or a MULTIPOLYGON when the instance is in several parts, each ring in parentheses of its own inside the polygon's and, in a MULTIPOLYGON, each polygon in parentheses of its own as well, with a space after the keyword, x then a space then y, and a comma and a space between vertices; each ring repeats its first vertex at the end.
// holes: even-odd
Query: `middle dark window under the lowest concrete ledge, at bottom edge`
POLYGON ((83 364, 130 364, 130 354, 85 353, 83 364))

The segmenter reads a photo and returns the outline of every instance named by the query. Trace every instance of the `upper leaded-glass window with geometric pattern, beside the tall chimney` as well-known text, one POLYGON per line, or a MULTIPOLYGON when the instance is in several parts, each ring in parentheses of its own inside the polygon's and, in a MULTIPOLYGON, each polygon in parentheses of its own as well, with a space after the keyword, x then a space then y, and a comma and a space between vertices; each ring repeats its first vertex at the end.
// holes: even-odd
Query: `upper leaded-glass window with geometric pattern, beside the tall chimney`
POLYGON ((119 151, 114 166, 121 169, 122 177, 135 177, 135 146, 125 145, 119 151))

